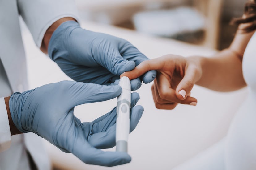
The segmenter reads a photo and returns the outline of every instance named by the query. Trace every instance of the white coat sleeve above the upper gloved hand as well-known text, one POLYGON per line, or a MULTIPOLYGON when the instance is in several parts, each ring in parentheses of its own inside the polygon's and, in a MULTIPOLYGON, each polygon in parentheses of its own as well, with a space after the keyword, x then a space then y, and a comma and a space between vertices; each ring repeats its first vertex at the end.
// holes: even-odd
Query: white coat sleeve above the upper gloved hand
POLYGON ((18 0, 18 9, 37 47, 41 47, 46 30, 58 19, 72 17, 79 22, 75 0, 18 0))

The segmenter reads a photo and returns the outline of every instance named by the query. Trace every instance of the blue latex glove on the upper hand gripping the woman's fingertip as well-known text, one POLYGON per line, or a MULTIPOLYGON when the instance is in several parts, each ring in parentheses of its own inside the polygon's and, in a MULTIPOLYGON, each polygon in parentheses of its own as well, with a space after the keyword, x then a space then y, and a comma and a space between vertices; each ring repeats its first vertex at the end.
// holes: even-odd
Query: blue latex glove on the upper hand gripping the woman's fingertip
MULTIPOLYGON (((82 29, 75 21, 62 23, 52 34, 48 54, 75 81, 101 85, 119 82, 119 76, 148 58, 130 42, 82 29)), ((156 71, 131 80, 131 90, 149 83, 156 71)))

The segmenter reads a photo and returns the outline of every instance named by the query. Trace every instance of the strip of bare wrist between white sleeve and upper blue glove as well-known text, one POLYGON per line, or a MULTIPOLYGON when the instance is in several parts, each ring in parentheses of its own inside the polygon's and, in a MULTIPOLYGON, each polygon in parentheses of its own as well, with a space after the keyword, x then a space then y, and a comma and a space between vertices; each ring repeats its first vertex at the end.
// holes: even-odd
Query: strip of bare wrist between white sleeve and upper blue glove
POLYGON ((45 32, 45 35, 44 35, 44 38, 43 38, 43 41, 42 41, 42 45, 40 47, 40 50, 47 54, 47 51, 48 51, 48 45, 49 45, 49 42, 50 42, 50 39, 52 37, 52 34, 53 32, 58 28, 58 26, 60 26, 63 22, 66 22, 66 21, 76 21, 74 18, 72 17, 64 17, 64 18, 61 18, 59 20, 57 20, 56 22, 54 22, 45 32))

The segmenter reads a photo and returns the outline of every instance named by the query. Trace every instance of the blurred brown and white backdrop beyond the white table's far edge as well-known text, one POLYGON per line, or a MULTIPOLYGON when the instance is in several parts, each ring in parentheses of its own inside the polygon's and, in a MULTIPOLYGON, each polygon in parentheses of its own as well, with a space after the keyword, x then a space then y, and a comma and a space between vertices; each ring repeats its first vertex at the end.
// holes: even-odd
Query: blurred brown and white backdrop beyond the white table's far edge
POLYGON ((224 49, 246 0, 76 0, 82 19, 224 49))

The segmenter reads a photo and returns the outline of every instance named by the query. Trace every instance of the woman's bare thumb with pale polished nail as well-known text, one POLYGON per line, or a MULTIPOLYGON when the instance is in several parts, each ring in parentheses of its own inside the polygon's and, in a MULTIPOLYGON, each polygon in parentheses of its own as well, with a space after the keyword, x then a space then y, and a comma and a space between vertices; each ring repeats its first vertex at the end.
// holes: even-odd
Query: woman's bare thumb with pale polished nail
POLYGON ((177 85, 175 94, 178 99, 184 100, 190 94, 194 84, 200 78, 200 72, 194 65, 189 65, 185 71, 185 75, 177 85))

